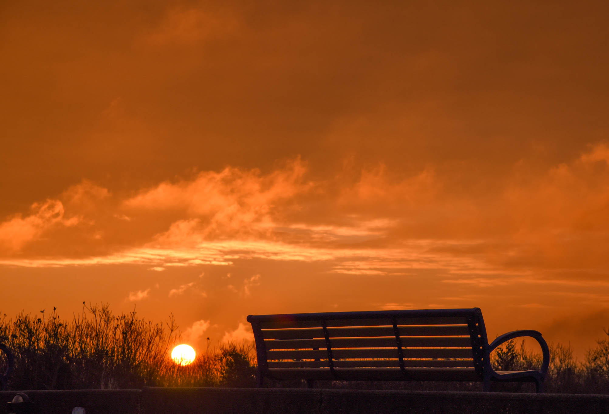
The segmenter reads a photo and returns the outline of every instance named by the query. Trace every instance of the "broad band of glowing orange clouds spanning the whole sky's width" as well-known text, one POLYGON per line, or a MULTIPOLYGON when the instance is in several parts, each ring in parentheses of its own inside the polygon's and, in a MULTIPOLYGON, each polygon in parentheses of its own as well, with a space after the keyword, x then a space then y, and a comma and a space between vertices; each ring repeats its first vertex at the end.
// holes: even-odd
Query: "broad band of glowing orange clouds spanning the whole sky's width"
MULTIPOLYGON (((200 171, 122 199, 83 181, 62 201, 35 204, 30 215, 2 223, 0 240, 11 251, 38 240, 44 253, 43 234, 50 245, 61 228, 89 237, 87 243, 101 243, 91 238, 99 234, 110 252, 91 247, 92 254, 74 257, 26 249, 0 264, 131 263, 162 271, 271 260, 326 263, 331 273, 362 277, 436 269, 446 283, 479 287, 515 283, 518 275, 567 280, 569 269, 592 280, 605 268, 609 237, 608 148, 597 143, 541 172, 523 160, 481 193, 454 191, 451 181, 459 178, 433 167, 405 176, 382 164, 347 163, 336 176, 314 179, 298 157, 264 173, 200 171), (121 215, 130 220, 116 219, 121 215)), ((256 283, 232 285, 247 296, 256 283)))

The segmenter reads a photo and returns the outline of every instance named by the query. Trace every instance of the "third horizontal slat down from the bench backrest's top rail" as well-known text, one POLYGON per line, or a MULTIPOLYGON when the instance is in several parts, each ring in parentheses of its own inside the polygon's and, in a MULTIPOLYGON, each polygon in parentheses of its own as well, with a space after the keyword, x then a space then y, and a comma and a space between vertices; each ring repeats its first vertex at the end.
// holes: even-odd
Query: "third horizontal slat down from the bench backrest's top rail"
MULTIPOLYGON (((470 337, 404 337, 402 347, 453 347, 471 348, 470 337)), ((331 338, 330 346, 334 348, 396 348, 395 337, 384 338, 331 338)), ((267 350, 294 350, 303 348, 326 348, 325 339, 275 339, 264 341, 267 350)))

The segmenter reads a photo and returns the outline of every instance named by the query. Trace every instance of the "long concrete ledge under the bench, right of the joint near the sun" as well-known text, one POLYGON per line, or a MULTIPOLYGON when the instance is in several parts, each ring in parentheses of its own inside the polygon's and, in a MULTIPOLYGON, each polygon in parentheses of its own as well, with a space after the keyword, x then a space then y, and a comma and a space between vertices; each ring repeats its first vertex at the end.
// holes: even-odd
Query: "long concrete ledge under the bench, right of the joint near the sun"
POLYGON ((142 412, 178 414, 608 413, 609 395, 144 388, 142 412))

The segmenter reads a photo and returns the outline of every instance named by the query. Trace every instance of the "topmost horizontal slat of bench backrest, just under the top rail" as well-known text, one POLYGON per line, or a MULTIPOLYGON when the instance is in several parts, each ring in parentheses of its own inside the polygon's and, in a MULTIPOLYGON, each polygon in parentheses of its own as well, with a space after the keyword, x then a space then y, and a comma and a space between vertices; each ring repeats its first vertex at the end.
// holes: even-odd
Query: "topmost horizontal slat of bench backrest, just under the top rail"
MULTIPOLYGON (((393 326, 389 318, 381 319, 328 319, 326 326, 393 326)), ((398 317, 398 325, 467 325, 465 317, 420 317, 408 318, 398 317)), ((295 319, 273 319, 259 322, 261 329, 275 328, 317 328, 320 326, 319 319, 295 320, 295 319)))

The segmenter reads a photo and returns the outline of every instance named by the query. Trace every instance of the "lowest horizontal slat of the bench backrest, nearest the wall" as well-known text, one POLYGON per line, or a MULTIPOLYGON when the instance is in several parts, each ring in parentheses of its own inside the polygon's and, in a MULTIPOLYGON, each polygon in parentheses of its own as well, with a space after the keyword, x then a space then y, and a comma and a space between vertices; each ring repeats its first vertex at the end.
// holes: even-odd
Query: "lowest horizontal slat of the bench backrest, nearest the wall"
MULTIPOLYGON (((345 381, 403 380, 400 368, 336 368, 337 378, 345 381)), ((337 379, 328 368, 284 368, 270 370, 275 379, 337 379)), ((406 378, 414 381, 480 381, 474 368, 407 368, 406 378)))

